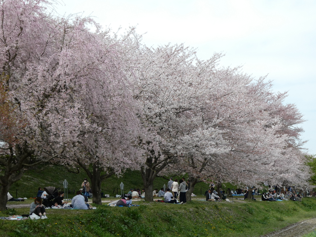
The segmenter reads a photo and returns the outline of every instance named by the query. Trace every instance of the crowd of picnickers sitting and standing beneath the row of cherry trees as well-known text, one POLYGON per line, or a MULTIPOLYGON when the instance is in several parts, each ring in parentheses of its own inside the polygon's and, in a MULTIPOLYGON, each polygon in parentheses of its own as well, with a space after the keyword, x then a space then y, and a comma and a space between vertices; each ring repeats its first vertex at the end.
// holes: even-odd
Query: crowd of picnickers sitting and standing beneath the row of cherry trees
MULTIPOLYGON (((160 200, 165 203, 178 203, 178 204, 185 204, 186 203, 186 191, 190 188, 190 182, 186 182, 185 178, 179 180, 175 179, 173 181, 173 178, 171 177, 168 181, 168 187, 166 190, 164 188, 161 188, 159 191, 158 189, 155 189, 152 193, 153 197, 163 197, 164 200, 160 200), (179 198, 179 200, 178 200, 179 198)), ((88 197, 90 197, 90 184, 88 182, 88 179, 84 179, 81 185, 81 189, 76 192, 76 196, 72 198, 71 204, 68 204, 68 201, 64 201, 64 192, 60 191, 58 192, 58 195, 53 199, 54 207, 52 208, 62 208, 65 204, 69 205, 70 208, 73 209, 92 209, 92 206, 88 204, 88 197)), ((269 185, 269 191, 263 192, 262 194, 258 191, 257 188, 252 187, 248 188, 246 186, 244 189, 238 188, 238 189, 227 189, 227 191, 220 189, 220 195, 215 190, 215 185, 213 182, 210 184, 210 189, 205 191, 206 201, 214 201, 214 202, 221 202, 222 200, 227 199, 228 196, 233 195, 240 195, 244 196, 244 199, 248 197, 248 195, 251 193, 252 199, 254 199, 255 196, 261 195, 262 201, 277 201, 278 199, 281 200, 293 200, 293 201, 301 201, 302 197, 307 195, 312 195, 316 193, 312 192, 310 190, 307 190, 303 192, 295 191, 295 188, 292 188, 291 186, 285 187, 285 186, 279 186, 269 185), (287 199, 288 198, 288 199, 287 199)), ((41 219, 46 219, 46 209, 45 206, 42 204, 43 200, 45 200, 49 195, 46 191, 43 191, 42 188, 39 187, 36 198, 34 202, 30 205, 30 212, 29 215, 35 214, 39 216, 41 219)), ((140 191, 139 188, 137 189, 131 189, 126 197, 122 197, 119 200, 116 200, 114 202, 109 203, 109 206, 130 206, 132 205, 132 199, 133 198, 145 198, 145 190, 142 189, 140 191)), ((8 192, 8 201, 24 201, 24 199, 19 198, 15 199, 13 198, 9 192, 8 192)))

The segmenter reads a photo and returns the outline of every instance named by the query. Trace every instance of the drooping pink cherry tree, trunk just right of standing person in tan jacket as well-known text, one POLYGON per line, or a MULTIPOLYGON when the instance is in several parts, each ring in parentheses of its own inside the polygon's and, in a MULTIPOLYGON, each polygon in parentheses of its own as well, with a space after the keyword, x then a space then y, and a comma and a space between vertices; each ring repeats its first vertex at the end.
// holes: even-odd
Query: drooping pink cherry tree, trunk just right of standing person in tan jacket
MULTIPOLYGON (((114 173, 120 175, 126 168, 137 169, 134 160, 141 154, 133 144, 141 129, 125 76, 127 59, 124 57, 124 38, 127 36, 111 37, 108 31, 92 34, 81 24, 76 27, 79 28, 76 30, 78 32, 69 33, 65 42, 71 42, 68 52, 82 54, 75 64, 76 71, 80 69, 83 72, 77 85, 80 91, 78 103, 86 119, 79 122, 80 133, 74 140, 74 151, 63 154, 61 162, 69 166, 79 165, 84 169, 91 179, 93 202, 102 204, 101 182, 114 173), (93 47, 73 47, 80 44, 76 40, 83 38, 74 35, 83 33, 89 37, 86 41, 93 47)), ((63 65, 69 65, 70 61, 63 65)), ((60 66, 60 70, 73 68, 60 66)))

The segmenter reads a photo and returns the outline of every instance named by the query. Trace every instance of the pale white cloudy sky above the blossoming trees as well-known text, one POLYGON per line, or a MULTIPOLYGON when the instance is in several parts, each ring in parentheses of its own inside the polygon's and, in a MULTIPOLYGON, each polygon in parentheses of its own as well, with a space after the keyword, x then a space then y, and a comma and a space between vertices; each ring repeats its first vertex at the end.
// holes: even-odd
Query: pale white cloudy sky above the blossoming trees
POLYGON ((64 0, 61 15, 95 16, 116 30, 137 25, 148 46, 184 43, 198 57, 223 52, 223 66, 243 65, 254 78, 268 75, 274 90, 289 91, 307 120, 305 148, 316 154, 316 1, 295 0, 64 0))

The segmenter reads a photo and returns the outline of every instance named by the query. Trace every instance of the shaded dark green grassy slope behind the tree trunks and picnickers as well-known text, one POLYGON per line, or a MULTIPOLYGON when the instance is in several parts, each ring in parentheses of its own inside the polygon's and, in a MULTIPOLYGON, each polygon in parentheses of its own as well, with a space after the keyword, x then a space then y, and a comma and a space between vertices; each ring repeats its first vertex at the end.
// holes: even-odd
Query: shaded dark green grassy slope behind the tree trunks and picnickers
MULTIPOLYGON (((68 189, 75 189, 76 191, 81 188, 83 179, 86 178, 86 173, 81 170, 79 174, 69 173, 63 166, 56 165, 41 165, 31 170, 27 170, 22 179, 16 182, 10 188, 10 193, 15 197, 16 189, 18 189, 18 197, 34 197, 37 194, 38 187, 55 186, 64 187, 64 179, 68 181, 68 189)), ((185 176, 187 178, 187 176, 185 176)), ((174 177, 182 178, 181 177, 174 177)), ((88 181, 90 181, 88 179, 88 181)), ((143 188, 143 180, 139 171, 127 170, 123 176, 117 178, 112 175, 110 178, 102 182, 101 188, 104 194, 110 194, 113 196, 113 189, 118 189, 120 192, 120 183, 124 184, 124 191, 127 193, 131 188, 143 188)), ((154 181, 154 188, 158 190, 167 185, 168 180, 163 178, 156 178, 154 181)), ((208 189, 208 185, 205 183, 198 183, 195 187, 195 192, 199 194, 202 188, 202 192, 208 189)), ((73 194, 69 194, 72 197, 73 194)))

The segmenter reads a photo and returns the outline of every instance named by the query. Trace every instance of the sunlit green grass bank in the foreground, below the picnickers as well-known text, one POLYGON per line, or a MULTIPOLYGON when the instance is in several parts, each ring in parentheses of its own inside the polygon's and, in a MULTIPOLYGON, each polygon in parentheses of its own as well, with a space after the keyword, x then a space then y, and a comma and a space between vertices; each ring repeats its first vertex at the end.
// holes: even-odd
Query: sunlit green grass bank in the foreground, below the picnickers
MULTIPOLYGON (((260 236, 314 217, 316 199, 303 200, 234 203, 193 200, 185 205, 138 202, 139 207, 130 208, 101 205, 96 206, 97 210, 50 209, 45 220, 0 221, 0 236, 260 236)), ((16 214, 28 211, 29 208, 15 209, 16 214)))

